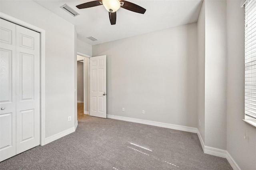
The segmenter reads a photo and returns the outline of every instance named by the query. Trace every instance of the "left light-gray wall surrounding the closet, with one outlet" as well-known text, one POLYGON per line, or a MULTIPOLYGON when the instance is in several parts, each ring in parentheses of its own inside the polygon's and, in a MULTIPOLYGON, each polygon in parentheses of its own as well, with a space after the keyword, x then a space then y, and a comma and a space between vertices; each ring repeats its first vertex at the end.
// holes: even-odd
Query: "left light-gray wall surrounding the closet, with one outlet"
POLYGON ((46 31, 46 138, 74 127, 74 25, 33 1, 1 1, 0 11, 46 31))

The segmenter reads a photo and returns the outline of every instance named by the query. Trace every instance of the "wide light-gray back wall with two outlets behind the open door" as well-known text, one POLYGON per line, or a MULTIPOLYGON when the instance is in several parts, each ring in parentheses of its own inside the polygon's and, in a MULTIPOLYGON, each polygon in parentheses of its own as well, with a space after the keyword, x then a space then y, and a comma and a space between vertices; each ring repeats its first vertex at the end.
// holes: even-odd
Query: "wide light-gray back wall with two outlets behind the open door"
POLYGON ((92 46, 107 55, 107 114, 197 127, 196 42, 192 23, 92 46))

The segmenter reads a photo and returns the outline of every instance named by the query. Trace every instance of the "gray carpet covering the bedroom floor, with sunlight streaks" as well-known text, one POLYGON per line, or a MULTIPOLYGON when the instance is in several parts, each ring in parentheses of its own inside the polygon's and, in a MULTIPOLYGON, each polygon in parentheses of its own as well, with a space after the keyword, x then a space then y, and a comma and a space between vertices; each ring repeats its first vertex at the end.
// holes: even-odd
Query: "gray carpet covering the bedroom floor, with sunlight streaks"
POLYGON ((197 134, 88 116, 76 132, 0 162, 1 170, 232 170, 197 134))

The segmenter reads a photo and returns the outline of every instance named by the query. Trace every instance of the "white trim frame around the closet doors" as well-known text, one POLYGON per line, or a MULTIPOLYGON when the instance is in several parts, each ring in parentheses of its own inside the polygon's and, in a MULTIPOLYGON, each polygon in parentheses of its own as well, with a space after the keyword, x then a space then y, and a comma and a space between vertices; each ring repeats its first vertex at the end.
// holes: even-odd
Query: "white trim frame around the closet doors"
POLYGON ((45 145, 45 30, 0 12, 0 18, 40 33, 40 145, 45 145))

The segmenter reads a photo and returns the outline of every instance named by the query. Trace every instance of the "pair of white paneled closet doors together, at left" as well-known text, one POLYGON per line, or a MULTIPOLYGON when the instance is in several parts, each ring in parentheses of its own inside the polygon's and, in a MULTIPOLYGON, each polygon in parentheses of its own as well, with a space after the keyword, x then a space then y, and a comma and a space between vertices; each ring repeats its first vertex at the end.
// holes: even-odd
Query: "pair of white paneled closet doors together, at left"
POLYGON ((40 34, 0 20, 0 161, 40 144, 40 34))

